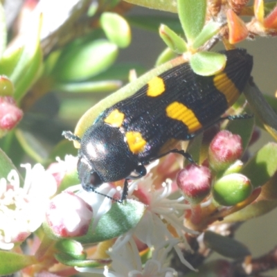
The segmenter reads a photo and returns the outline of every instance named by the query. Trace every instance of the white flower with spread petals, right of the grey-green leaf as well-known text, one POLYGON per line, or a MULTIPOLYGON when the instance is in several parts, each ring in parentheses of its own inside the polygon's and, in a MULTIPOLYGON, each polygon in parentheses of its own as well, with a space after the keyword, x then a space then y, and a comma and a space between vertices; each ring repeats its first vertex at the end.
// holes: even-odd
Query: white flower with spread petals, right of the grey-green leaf
MULTIPOLYGON (((174 238, 168 226, 174 229, 174 233, 177 233, 179 242, 186 244, 190 250, 190 247, 186 243, 184 233, 197 234, 197 232, 187 229, 184 226, 184 210, 190 208, 190 205, 180 203, 184 202, 184 197, 179 197, 178 199, 167 198, 171 193, 171 181, 164 183, 163 189, 155 190, 152 186, 151 177, 145 177, 130 186, 130 193, 134 193, 135 190, 141 190, 139 193, 136 192, 136 195, 143 195, 143 199, 147 202, 148 207, 139 224, 116 240, 112 247, 113 251, 115 253, 119 251, 124 244, 131 240, 133 235, 139 238, 141 242, 147 244, 148 247, 158 247, 160 249, 161 244, 174 238)), ((172 247, 177 252, 181 262, 188 268, 194 270, 184 259, 177 244, 172 247)))

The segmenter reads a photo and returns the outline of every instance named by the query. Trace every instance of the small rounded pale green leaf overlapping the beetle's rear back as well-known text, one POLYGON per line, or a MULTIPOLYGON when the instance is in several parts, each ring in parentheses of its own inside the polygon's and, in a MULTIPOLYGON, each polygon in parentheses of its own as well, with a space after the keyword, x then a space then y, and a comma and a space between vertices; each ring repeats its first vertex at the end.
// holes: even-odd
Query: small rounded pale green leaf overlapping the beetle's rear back
POLYGON ((224 69, 226 60, 226 56, 220 53, 203 51, 190 58, 190 66, 198 75, 211 76, 224 69))

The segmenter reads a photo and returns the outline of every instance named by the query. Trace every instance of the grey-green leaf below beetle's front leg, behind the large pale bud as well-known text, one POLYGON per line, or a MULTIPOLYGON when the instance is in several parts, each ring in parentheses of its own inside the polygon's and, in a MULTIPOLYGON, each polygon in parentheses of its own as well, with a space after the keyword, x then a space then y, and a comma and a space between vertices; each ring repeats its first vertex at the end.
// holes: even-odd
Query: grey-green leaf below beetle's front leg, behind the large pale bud
POLYGON ((125 204, 114 203, 111 209, 102 215, 95 230, 91 229, 91 222, 87 235, 74 239, 82 243, 93 243, 123 235, 139 223, 145 208, 144 204, 133 200, 127 200, 125 204))

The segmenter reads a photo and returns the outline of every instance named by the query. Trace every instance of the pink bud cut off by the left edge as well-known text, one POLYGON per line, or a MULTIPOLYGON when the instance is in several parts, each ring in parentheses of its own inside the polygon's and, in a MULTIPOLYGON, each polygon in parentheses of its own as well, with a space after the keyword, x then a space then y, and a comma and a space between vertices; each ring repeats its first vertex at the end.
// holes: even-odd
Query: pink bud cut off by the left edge
POLYGON ((2 131, 8 131, 15 127, 22 116, 23 111, 17 107, 12 97, 0 97, 0 129, 2 129, 2 131))

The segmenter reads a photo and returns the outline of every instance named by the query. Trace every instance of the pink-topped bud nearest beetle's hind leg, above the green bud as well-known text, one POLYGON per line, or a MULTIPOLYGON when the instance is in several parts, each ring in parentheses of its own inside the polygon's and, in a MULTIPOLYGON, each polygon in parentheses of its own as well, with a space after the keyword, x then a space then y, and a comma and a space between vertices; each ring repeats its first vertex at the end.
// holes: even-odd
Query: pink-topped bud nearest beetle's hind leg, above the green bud
POLYGON ((215 171, 228 168, 242 155, 242 139, 229 131, 219 132, 208 148, 208 161, 215 171))

